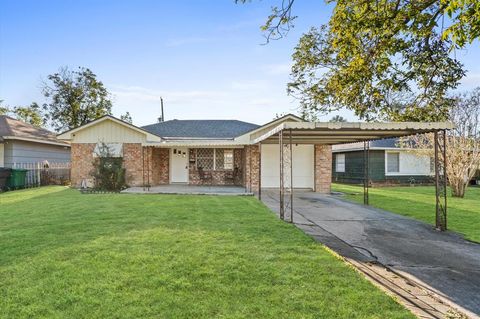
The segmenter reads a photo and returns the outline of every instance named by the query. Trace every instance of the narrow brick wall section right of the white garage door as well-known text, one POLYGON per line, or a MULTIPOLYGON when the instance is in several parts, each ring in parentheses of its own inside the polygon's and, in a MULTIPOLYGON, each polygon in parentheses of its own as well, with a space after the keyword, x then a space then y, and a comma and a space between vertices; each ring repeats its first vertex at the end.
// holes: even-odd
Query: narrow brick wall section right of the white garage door
POLYGON ((315 192, 329 194, 332 184, 332 146, 315 145, 315 192))

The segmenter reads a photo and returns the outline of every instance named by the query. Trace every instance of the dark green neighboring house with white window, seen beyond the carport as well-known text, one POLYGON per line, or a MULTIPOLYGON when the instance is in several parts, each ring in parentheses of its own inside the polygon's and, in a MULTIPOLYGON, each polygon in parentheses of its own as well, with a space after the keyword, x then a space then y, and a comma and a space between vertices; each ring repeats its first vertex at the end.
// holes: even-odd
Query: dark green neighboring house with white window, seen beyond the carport
MULTIPOLYGON (((332 152, 332 180, 341 183, 363 183, 363 142, 334 145, 332 152)), ((433 159, 400 148, 396 138, 371 141, 368 166, 369 180, 373 184, 433 182, 433 159)))

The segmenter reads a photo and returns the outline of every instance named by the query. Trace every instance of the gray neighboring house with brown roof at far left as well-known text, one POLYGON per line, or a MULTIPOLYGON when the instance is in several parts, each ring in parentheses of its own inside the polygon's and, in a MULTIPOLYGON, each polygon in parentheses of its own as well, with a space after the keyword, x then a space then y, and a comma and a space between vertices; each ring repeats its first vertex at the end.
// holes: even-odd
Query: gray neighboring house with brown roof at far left
POLYGON ((46 129, 0 115, 0 167, 43 161, 70 162, 70 144, 46 129))

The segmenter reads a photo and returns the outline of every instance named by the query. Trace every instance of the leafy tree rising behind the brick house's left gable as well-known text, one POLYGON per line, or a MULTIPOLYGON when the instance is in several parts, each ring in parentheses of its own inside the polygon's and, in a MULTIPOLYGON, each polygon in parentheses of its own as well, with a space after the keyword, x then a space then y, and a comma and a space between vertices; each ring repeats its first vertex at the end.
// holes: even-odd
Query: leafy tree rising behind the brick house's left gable
POLYGON ((111 114, 110 94, 88 68, 61 68, 48 76, 43 94, 46 116, 56 131, 72 129, 111 114))

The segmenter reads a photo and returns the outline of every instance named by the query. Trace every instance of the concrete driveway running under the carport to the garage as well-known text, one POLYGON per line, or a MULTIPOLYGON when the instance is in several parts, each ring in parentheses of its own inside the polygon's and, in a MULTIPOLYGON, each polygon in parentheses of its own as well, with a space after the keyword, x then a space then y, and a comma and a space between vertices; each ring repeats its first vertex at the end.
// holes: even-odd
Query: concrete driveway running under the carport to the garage
MULTIPOLYGON (((262 201, 278 213, 278 191, 262 190, 262 201)), ((438 232, 423 222, 347 202, 336 195, 296 191, 294 208, 294 222, 300 228, 318 225, 354 247, 360 253, 359 259, 373 258, 460 307, 480 314, 479 244, 452 232, 438 232)))

